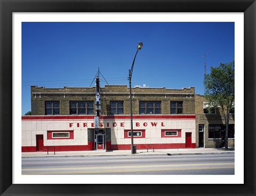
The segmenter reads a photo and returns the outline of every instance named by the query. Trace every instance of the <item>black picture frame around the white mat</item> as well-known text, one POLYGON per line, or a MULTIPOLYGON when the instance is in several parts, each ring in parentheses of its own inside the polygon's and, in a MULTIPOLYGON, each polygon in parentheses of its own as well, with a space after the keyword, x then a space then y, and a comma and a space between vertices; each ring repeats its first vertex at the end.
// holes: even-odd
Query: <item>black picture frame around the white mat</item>
MULTIPOLYGON (((255 195, 255 0, 0 0, 1 195, 255 195), (12 184, 13 12, 243 12, 244 184, 12 184)), ((239 119, 238 119, 239 121, 239 119)), ((241 130, 242 131, 242 130, 241 130)), ((203 177, 203 176, 202 176, 203 177)), ((154 181, 154 179, 153 179, 154 181)), ((193 183, 193 182, 191 182, 193 183)))

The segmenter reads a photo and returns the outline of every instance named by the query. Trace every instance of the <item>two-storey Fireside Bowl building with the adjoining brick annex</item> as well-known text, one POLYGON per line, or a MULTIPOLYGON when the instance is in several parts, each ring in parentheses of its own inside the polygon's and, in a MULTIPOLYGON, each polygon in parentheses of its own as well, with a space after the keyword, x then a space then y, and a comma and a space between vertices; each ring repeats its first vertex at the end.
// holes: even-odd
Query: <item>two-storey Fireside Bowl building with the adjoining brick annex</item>
MULTIPOLYGON (((100 89, 99 121, 94 118, 95 90, 31 86, 31 116, 22 116, 22 151, 130 150, 129 88, 100 89)), ((221 139, 208 138, 209 129, 213 125, 218 129, 223 121, 218 112, 204 114, 203 102, 194 87, 132 88, 134 145, 137 149, 153 144, 155 149, 217 147, 221 139)))

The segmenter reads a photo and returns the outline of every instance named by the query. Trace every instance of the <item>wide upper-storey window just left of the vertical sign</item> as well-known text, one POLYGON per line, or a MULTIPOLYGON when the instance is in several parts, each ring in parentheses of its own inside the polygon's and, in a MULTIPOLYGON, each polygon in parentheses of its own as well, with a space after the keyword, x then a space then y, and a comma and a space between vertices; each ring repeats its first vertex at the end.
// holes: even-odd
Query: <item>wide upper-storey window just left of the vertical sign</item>
POLYGON ((70 101, 70 114, 93 114, 93 101, 70 101))

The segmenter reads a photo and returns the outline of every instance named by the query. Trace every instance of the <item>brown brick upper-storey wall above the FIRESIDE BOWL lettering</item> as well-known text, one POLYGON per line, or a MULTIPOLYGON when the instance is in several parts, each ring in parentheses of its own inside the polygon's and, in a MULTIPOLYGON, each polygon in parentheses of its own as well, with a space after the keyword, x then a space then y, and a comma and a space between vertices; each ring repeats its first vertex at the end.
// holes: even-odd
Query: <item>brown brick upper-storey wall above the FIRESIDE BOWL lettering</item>
MULTIPOLYGON (((109 115, 110 101, 124 101, 124 114, 130 114, 129 95, 127 86, 101 88, 101 114, 109 115)), ((32 115, 45 115, 45 101, 60 101, 60 115, 70 115, 70 101, 83 100, 95 100, 95 87, 51 89, 31 86, 32 115)), ((162 114, 171 114, 171 101, 183 101, 183 114, 195 114, 194 87, 183 89, 132 88, 134 115, 139 114, 139 101, 161 101, 162 114)))

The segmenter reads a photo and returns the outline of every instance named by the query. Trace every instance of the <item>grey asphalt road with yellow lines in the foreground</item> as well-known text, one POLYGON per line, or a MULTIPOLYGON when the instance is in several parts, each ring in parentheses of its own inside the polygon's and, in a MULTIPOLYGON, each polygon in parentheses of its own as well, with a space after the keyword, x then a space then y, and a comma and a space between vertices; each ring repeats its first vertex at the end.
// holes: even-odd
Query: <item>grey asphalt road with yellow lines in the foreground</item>
POLYGON ((235 174, 235 154, 24 157, 22 174, 230 175, 235 174))

